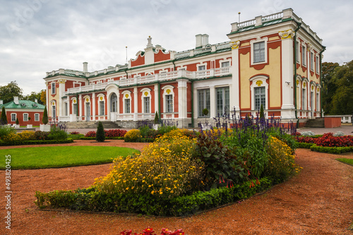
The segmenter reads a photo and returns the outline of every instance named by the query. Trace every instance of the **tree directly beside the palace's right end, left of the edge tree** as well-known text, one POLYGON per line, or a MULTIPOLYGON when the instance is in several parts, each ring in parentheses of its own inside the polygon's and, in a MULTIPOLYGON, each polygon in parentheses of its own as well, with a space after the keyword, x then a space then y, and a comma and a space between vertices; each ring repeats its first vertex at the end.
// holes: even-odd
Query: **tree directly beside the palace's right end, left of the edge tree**
POLYGON ((333 109, 333 95, 337 90, 337 84, 333 80, 335 68, 339 67, 338 63, 324 62, 322 64, 321 78, 323 88, 321 89, 321 100, 323 104, 323 111, 325 114, 331 114, 333 109))

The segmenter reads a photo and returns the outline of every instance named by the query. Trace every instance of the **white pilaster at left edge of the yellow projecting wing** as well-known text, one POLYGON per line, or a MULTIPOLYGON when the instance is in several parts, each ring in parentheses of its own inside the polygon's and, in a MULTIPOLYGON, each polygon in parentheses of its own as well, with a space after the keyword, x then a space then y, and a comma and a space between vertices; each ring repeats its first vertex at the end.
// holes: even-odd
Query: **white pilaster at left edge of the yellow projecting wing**
MULTIPOLYGON (((232 88, 229 87, 229 109, 235 110, 237 113, 240 110, 240 87, 239 87, 239 41, 235 42, 232 46, 232 67, 230 71, 232 73, 232 88)), ((214 92, 213 92, 214 93, 214 92)), ((211 93, 212 94, 212 93, 211 93)), ((211 98, 212 100, 212 98, 211 98)), ((211 101, 212 105, 212 101, 211 101)), ((212 108, 211 108, 212 110, 212 108)), ((214 115, 216 114, 216 111, 214 115)), ((213 114, 211 113, 211 116, 213 114)))

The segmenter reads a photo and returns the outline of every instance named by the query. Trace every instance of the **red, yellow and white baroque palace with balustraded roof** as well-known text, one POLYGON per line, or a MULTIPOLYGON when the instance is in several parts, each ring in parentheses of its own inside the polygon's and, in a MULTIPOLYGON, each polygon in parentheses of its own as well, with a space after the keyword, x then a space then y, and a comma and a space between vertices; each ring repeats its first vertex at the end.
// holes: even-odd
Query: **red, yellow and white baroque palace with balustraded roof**
POLYGON ((196 35, 196 47, 183 52, 147 47, 128 64, 102 71, 59 69, 47 72, 47 109, 51 121, 161 119, 193 127, 208 118, 256 114, 283 123, 322 116, 322 40, 291 8, 232 23, 229 41, 209 44, 196 35))

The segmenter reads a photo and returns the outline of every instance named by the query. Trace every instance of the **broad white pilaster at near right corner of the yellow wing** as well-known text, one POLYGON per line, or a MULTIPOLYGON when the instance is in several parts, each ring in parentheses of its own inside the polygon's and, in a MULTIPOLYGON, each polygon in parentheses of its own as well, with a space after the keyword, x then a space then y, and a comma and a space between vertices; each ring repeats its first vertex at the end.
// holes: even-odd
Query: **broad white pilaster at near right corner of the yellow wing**
POLYGON ((295 119, 293 83, 294 60, 292 37, 282 37, 282 119, 295 119))

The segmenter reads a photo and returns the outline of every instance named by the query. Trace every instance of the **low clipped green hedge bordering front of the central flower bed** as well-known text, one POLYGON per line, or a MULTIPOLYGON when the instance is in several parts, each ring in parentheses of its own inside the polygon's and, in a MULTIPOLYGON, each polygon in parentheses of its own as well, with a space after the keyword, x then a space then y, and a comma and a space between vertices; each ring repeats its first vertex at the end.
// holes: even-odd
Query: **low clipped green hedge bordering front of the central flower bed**
POLYGON ((222 187, 206 192, 199 191, 192 195, 176 198, 160 198, 152 194, 107 194, 97 192, 95 188, 78 188, 76 191, 52 191, 49 193, 37 191, 35 203, 40 209, 49 207, 181 217, 249 198, 272 186, 272 181, 268 178, 260 179, 259 182, 255 185, 253 182, 246 182, 232 188, 222 187))

